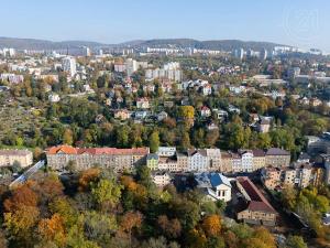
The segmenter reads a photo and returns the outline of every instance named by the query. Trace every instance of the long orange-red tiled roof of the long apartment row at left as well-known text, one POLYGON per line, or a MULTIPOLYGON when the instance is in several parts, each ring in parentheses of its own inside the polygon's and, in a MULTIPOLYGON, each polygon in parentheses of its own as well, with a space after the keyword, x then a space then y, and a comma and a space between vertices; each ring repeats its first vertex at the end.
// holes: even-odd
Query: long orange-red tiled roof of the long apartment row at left
POLYGON ((48 154, 57 154, 64 152, 66 154, 82 154, 89 153, 94 155, 98 154, 113 154, 113 155, 125 155, 125 154, 139 154, 144 155, 148 153, 148 148, 132 148, 132 149, 118 149, 118 148, 74 148, 70 145, 58 145, 53 147, 48 150, 48 154))

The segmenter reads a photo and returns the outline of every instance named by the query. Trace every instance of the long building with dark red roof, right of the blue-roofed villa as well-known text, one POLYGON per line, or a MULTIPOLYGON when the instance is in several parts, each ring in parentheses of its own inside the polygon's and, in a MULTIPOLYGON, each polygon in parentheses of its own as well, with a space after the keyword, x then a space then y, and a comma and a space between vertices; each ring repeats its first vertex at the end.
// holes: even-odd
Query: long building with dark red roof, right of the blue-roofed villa
POLYGON ((275 226, 276 211, 250 179, 238 177, 237 186, 244 197, 238 209, 238 219, 248 224, 275 226))

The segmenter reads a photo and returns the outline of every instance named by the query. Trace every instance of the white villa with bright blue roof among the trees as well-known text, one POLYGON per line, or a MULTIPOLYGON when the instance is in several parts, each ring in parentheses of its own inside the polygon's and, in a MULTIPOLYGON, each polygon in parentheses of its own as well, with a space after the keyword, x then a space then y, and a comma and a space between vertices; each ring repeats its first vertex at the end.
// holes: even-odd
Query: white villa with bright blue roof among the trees
POLYGON ((196 173, 195 181, 197 187, 201 188, 211 201, 231 201, 231 184, 224 175, 220 173, 196 173))

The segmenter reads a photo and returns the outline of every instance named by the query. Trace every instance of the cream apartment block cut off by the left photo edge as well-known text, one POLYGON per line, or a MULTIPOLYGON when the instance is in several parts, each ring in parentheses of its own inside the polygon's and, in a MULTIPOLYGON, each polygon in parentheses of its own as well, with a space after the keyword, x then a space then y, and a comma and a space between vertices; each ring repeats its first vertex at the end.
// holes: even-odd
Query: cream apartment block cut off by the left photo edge
POLYGON ((33 163, 33 154, 29 150, 2 149, 0 150, 0 168, 19 163, 22 168, 33 163))

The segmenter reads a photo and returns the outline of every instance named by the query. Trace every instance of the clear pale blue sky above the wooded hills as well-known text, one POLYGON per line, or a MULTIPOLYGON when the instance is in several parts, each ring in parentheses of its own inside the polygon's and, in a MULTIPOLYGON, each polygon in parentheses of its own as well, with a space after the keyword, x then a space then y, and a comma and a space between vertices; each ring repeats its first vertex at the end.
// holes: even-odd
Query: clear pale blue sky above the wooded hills
POLYGON ((0 36, 267 41, 330 53, 329 0, 0 0, 0 36))

